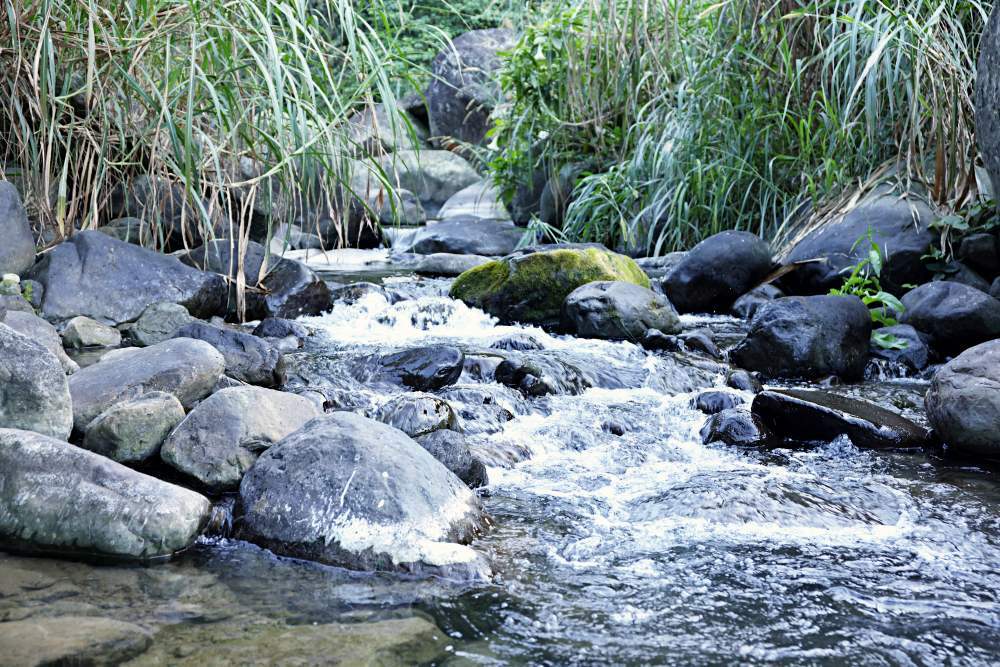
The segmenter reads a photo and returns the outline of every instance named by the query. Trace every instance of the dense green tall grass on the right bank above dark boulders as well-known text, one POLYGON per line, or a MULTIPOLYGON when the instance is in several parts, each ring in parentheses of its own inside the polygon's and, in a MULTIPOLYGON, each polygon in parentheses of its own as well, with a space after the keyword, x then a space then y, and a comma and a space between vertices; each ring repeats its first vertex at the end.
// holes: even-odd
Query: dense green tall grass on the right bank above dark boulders
POLYGON ((508 61, 496 177, 589 163, 564 234, 641 253, 723 229, 780 241, 886 163, 961 207, 990 4, 576 0, 508 61))

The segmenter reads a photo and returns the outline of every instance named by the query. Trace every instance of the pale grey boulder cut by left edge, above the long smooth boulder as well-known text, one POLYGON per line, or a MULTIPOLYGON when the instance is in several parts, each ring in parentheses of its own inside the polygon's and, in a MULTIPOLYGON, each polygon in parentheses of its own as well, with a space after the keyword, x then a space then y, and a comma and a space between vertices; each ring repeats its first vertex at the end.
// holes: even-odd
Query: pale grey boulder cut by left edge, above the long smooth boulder
POLYGON ((0 324, 0 428, 63 440, 73 428, 69 385, 59 360, 42 343, 5 324, 0 324))

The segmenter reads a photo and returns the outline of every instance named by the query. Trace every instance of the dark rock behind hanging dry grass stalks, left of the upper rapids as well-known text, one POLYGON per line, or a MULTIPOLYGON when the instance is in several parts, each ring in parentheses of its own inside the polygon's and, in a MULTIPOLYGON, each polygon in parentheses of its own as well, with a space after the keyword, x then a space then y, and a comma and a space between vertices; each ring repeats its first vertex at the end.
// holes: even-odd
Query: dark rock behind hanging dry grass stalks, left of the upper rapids
MULTIPOLYGON (((229 276, 235 281, 240 266, 235 250, 234 241, 220 239, 182 255, 181 260, 190 266, 229 276)), ((293 259, 274 255, 268 257, 264 246, 251 242, 243 259, 243 277, 247 286, 253 287, 257 285, 258 276, 264 276, 260 283, 262 291, 246 292, 248 320, 318 315, 330 309, 330 290, 312 269, 293 259)), ((235 289, 233 284, 228 301, 230 319, 239 319, 235 289)), ((192 313, 197 315, 194 311, 192 313)))

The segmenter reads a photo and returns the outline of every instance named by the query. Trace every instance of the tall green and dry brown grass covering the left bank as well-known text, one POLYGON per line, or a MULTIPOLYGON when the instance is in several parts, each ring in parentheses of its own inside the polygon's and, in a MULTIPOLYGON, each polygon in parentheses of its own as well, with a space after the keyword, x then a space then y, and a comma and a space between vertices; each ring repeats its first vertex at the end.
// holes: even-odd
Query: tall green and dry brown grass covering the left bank
MULTIPOLYGON (((255 211, 269 228, 306 208, 344 225, 345 121, 394 95, 391 56, 349 0, 0 9, 0 160, 52 242, 107 222, 141 175, 183 193, 185 244, 223 234, 245 249, 255 211)), ((170 230, 150 222, 164 247, 170 230)))

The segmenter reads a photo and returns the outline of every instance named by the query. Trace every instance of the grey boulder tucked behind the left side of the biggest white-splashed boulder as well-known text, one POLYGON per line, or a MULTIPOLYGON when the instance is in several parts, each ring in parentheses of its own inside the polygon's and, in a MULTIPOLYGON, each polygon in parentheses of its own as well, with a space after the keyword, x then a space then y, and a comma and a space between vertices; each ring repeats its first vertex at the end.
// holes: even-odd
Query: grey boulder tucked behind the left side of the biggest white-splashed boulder
POLYGON ((212 491, 230 491, 261 452, 317 417, 309 399, 260 387, 222 389, 195 406, 160 450, 212 491))

